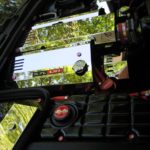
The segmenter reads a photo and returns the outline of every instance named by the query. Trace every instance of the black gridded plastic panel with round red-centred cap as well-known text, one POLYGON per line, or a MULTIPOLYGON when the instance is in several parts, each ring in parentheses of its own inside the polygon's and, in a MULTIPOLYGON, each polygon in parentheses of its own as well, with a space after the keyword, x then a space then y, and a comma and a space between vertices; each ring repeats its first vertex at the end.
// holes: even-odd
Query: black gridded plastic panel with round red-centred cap
POLYGON ((125 93, 72 95, 57 101, 43 125, 41 138, 150 138, 149 108, 148 100, 125 93))

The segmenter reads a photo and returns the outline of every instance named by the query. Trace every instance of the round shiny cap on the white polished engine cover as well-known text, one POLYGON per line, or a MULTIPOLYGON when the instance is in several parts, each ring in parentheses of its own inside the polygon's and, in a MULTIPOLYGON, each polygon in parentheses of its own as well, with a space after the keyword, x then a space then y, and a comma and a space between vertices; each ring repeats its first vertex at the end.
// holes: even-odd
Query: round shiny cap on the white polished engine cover
POLYGON ((88 65, 84 60, 78 60, 75 62, 72 68, 77 75, 84 75, 88 70, 88 65))

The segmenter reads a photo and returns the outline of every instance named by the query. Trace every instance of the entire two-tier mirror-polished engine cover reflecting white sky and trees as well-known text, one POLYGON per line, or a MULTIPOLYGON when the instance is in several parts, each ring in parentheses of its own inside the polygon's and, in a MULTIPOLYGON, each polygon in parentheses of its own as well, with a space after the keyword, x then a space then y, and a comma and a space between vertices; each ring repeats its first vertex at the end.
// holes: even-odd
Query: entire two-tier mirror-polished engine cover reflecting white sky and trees
POLYGON ((17 49, 14 81, 19 88, 93 82, 91 41, 115 42, 113 20, 113 13, 93 12, 35 24, 17 49))

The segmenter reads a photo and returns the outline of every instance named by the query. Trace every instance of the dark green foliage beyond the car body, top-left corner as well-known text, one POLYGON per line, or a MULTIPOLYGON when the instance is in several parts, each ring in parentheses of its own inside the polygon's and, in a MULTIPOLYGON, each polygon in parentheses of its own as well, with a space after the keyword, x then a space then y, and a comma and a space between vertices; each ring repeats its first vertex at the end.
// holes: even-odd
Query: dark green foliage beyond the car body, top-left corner
POLYGON ((26 2, 26 0, 0 0, 0 24, 26 2))

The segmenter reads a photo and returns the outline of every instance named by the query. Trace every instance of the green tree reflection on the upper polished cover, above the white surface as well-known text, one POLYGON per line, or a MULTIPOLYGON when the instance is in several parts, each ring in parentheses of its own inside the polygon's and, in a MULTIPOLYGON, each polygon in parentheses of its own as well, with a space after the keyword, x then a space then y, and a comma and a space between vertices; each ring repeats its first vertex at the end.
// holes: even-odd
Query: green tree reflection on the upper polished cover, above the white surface
POLYGON ((39 52, 42 46, 45 46, 46 50, 69 47, 74 43, 90 41, 93 34, 113 30, 114 14, 60 23, 32 30, 22 51, 34 50, 31 53, 35 53, 39 52))

